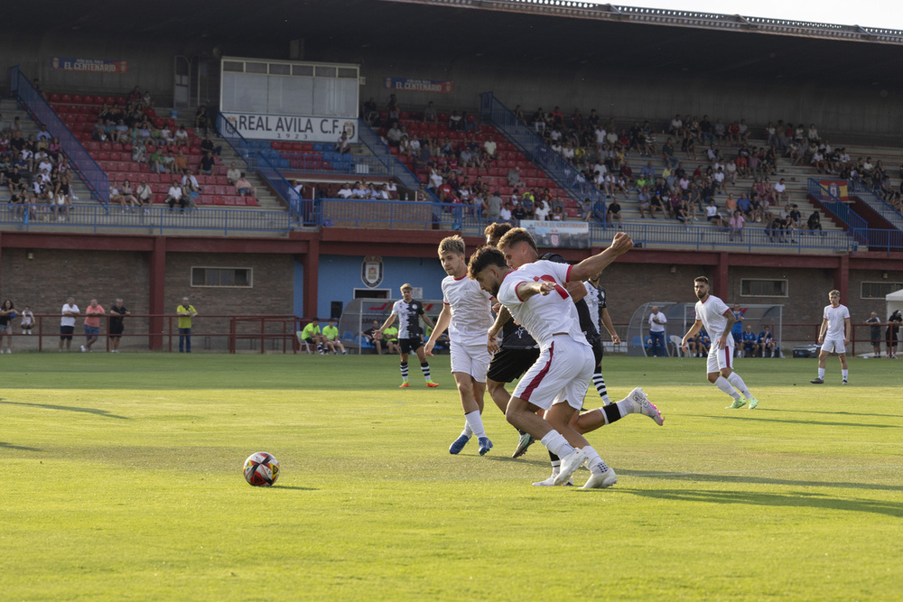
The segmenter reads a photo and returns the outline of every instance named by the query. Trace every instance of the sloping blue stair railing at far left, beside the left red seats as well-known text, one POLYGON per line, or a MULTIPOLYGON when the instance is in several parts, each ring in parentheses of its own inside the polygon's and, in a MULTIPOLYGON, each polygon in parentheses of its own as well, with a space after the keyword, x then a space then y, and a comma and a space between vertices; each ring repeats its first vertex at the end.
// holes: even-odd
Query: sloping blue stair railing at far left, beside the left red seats
POLYGON ((107 173, 100 169, 98 162, 94 161, 47 100, 34 89, 32 82, 25 77, 18 65, 9 69, 9 85, 12 97, 22 103, 38 123, 47 125, 47 131, 51 136, 60 139, 62 152, 69 157, 72 167, 79 171, 91 195, 107 207, 110 197, 107 173))

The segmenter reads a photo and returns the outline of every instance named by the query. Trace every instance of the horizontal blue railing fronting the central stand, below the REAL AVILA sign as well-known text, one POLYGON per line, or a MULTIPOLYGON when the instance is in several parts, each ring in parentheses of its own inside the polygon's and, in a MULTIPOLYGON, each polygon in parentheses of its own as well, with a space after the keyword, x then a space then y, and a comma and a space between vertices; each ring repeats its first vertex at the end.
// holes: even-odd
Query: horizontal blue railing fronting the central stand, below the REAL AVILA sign
POLYGON ((480 207, 413 200, 320 199, 321 227, 479 230, 480 207))

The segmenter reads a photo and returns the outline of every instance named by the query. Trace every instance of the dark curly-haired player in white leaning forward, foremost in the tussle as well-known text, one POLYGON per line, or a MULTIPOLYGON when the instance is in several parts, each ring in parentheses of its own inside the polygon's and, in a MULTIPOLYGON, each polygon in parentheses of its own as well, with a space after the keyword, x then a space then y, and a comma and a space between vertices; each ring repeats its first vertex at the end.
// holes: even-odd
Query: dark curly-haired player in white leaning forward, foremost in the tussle
POLYGON ((507 265, 501 251, 489 246, 470 257, 470 277, 484 291, 495 295, 539 343, 539 359, 517 384, 505 417, 562 459, 555 485, 567 482, 584 463, 590 467, 591 476, 583 488, 608 487, 618 482, 614 470, 571 425, 574 414, 582 407, 595 359, 563 284, 600 273, 632 246, 630 237, 619 232, 609 248, 580 264, 537 261, 517 270, 507 265), (545 417, 536 414, 539 409, 546 411, 545 417))

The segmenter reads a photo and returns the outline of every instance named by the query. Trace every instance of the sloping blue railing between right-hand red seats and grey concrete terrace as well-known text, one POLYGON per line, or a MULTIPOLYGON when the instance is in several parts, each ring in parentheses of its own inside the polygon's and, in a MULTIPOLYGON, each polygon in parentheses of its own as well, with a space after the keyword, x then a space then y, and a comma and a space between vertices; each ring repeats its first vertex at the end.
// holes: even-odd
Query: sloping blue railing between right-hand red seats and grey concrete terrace
MULTIPOLYGON (((514 113, 499 102, 492 92, 484 92, 479 95, 479 99, 480 116, 483 119, 488 117, 492 125, 496 125, 511 143, 526 154, 527 158, 548 172, 573 199, 581 202, 590 199, 591 204, 597 200, 604 203, 605 195, 592 182, 586 181, 576 167, 545 144, 542 136, 536 134, 532 127, 518 121, 514 113)), ((602 215, 605 215, 604 211, 602 215)))

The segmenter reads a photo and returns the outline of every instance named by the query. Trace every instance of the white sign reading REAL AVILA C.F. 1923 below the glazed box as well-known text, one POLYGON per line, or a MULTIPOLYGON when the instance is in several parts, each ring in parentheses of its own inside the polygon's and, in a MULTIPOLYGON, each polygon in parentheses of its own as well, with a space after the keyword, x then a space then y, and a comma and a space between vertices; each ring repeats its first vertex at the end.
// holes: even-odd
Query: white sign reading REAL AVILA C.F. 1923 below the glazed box
POLYGON ((342 117, 293 115, 257 115, 223 112, 238 133, 248 140, 286 140, 297 142, 339 142, 342 132, 352 143, 358 142, 358 122, 342 117))

